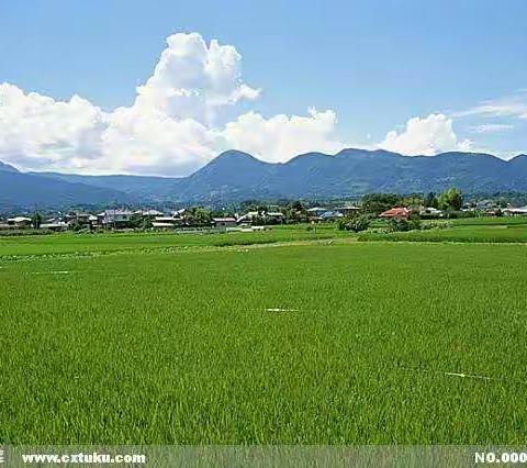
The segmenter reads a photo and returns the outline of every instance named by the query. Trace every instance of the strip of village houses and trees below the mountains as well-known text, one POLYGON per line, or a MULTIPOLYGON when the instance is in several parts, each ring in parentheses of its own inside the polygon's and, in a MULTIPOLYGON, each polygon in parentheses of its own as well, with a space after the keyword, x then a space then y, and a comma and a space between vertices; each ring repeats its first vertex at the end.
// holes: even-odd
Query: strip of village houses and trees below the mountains
MULTIPOLYGON (((441 220, 451 218, 527 215, 526 207, 513 207, 492 199, 463 202, 456 189, 439 197, 373 193, 354 203, 311 205, 294 201, 287 204, 253 203, 239 210, 213 210, 188 207, 177 210, 154 208, 111 208, 100 212, 67 210, 65 212, 24 212, 0 215, 0 232, 65 232, 65 231, 244 231, 254 232, 280 224, 336 223, 340 229, 357 225, 365 229, 371 221, 441 220)), ((396 223, 395 223, 396 224, 396 223)), ((355 231, 355 227, 350 230, 355 231)), ((361 229, 359 229, 361 230, 361 229)))

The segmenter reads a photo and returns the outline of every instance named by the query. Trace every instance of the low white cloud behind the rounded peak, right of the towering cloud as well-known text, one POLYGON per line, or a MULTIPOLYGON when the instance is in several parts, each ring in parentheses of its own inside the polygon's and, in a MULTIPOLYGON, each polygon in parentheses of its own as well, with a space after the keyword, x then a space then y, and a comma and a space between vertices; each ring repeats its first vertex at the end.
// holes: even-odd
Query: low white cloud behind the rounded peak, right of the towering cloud
POLYGON ((223 135, 229 147, 278 163, 302 153, 343 149, 345 145, 332 137, 335 123, 333 111, 310 109, 307 116, 280 114, 270 119, 248 112, 227 123, 223 135))

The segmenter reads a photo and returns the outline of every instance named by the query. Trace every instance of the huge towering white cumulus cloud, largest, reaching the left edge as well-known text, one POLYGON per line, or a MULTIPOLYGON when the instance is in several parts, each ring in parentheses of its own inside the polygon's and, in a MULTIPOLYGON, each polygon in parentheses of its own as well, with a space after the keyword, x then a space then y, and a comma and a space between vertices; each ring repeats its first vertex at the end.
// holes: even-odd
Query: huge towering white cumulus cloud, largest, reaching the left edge
POLYGON ((259 96, 242 81, 240 59, 231 45, 175 34, 134 103, 112 112, 0 85, 0 158, 27 169, 188 174, 225 148, 221 110, 259 96))

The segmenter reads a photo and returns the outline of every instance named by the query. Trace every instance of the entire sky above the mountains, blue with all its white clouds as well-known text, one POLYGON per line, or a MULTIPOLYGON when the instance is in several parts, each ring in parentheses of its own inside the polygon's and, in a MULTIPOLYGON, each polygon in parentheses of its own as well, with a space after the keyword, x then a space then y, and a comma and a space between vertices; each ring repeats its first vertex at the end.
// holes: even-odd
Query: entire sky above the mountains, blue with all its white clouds
POLYGON ((0 0, 0 160, 186 176, 225 149, 527 153, 524 0, 0 0))

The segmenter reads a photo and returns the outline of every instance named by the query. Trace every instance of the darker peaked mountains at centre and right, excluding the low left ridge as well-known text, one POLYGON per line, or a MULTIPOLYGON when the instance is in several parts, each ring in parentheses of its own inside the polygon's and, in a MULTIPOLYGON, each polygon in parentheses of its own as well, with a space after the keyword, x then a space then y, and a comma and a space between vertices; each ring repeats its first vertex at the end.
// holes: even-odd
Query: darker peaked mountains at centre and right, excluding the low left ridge
POLYGON ((527 156, 506 161, 487 154, 408 157, 351 148, 334 156, 307 153, 284 164, 268 164, 233 151, 183 179, 176 193, 181 200, 228 201, 427 192, 449 187, 466 193, 527 191, 527 156))

